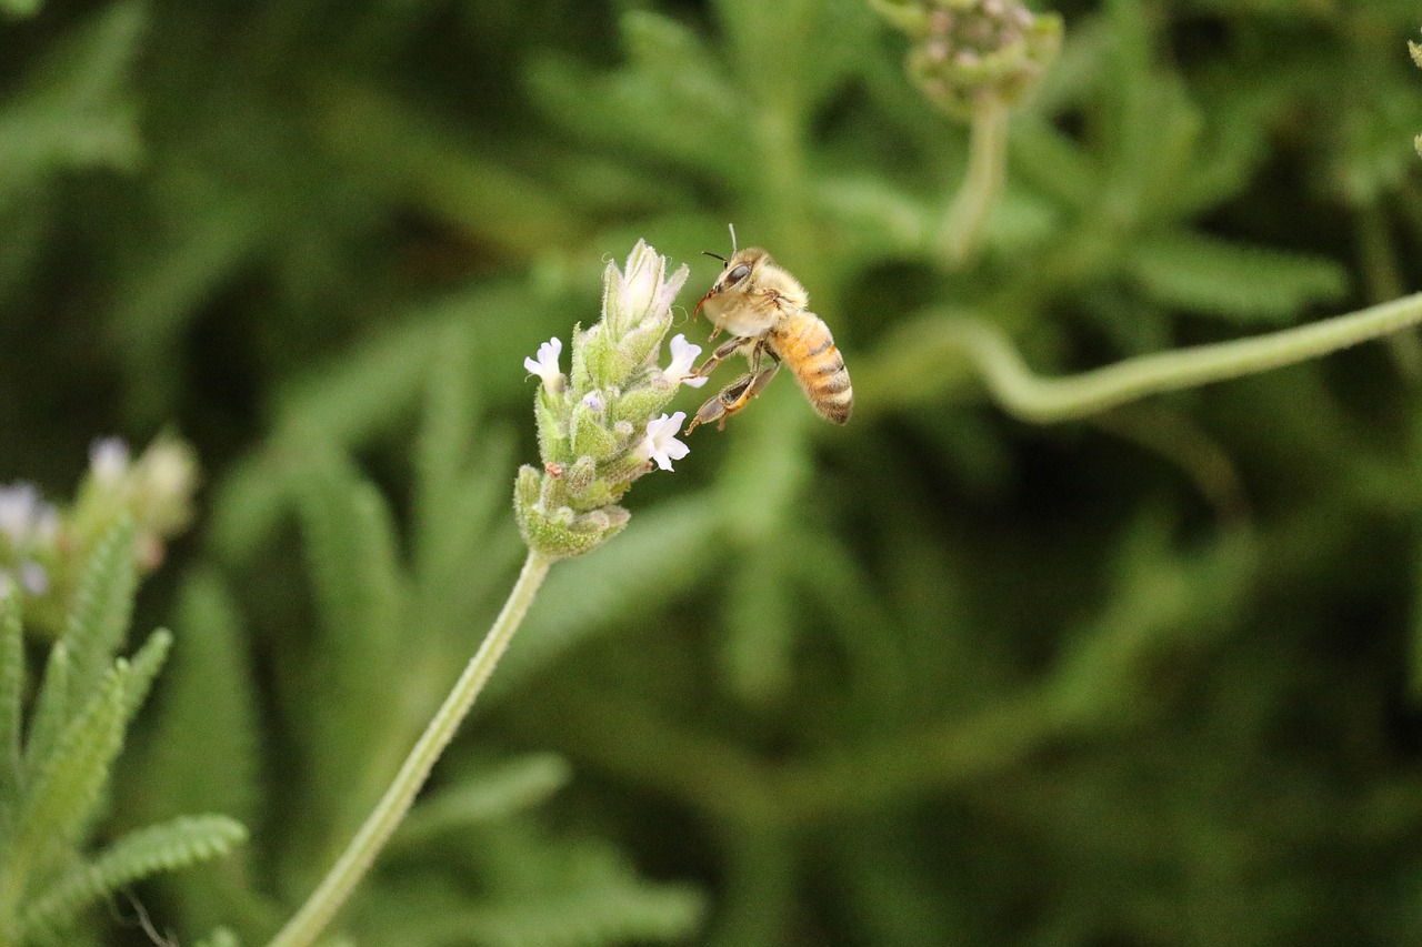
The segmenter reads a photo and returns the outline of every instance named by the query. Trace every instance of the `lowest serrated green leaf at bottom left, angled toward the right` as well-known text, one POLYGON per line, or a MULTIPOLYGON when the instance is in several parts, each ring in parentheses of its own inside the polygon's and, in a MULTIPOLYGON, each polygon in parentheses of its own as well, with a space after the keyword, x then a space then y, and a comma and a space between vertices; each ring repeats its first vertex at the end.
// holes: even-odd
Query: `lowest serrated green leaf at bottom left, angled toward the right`
POLYGON ((67 869, 28 903, 24 931, 64 927, 81 909, 158 872, 226 855, 247 830, 228 816, 181 816, 129 832, 92 859, 67 869))

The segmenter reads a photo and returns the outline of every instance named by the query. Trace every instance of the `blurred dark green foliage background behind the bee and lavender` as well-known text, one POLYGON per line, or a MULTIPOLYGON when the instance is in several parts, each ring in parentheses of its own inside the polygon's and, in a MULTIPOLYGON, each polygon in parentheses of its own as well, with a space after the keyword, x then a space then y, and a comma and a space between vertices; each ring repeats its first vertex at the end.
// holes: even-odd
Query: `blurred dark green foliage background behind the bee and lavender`
POLYGON ((555 566, 348 943, 1422 943, 1416 340, 1041 428, 934 334, 1071 373, 1416 289, 1415 3, 1058 4, 966 266, 863 0, 0 10, 0 479, 205 466, 100 836, 252 840, 159 930, 304 899, 512 583, 522 358, 637 237, 704 343, 734 222, 856 417, 782 380, 555 566))

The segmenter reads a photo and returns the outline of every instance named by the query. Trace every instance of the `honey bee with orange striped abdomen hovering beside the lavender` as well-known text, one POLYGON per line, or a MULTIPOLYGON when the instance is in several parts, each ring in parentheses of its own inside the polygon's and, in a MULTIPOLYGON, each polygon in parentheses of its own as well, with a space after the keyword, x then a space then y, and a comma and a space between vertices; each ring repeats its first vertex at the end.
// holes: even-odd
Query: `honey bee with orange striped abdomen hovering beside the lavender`
POLYGON ((711 338, 722 331, 731 333, 731 338, 718 346, 691 377, 705 378, 738 351, 745 354, 751 370, 701 405, 687 425, 687 434, 712 421, 724 429, 727 418, 771 384, 782 361, 789 365, 819 417, 835 424, 849 421, 855 407, 849 371, 825 320, 805 309, 809 306, 805 287, 761 247, 737 250, 735 230, 731 230, 731 259, 715 253, 707 256, 721 260, 724 266, 711 291, 697 303, 693 317, 704 310, 715 327, 711 338))

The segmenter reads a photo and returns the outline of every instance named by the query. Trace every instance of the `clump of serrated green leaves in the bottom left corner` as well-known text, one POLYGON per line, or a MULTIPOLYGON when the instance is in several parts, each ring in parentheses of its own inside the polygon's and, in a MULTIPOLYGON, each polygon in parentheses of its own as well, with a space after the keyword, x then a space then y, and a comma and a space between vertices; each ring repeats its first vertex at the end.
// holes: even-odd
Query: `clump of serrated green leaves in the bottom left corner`
POLYGON ((90 904, 155 872, 225 855, 246 838, 228 816, 179 816, 87 850, 124 734, 172 644, 159 630, 131 660, 114 660, 132 609, 132 549, 131 525, 111 529, 95 549, 26 728, 20 594, 0 596, 0 938, 7 944, 63 943, 90 904))

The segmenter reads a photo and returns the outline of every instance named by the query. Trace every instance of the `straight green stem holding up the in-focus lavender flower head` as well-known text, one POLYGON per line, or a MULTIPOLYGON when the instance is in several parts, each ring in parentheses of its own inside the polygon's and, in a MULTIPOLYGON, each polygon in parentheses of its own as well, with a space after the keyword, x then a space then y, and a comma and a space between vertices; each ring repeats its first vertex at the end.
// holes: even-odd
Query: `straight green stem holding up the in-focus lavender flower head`
POLYGON ((493 620, 493 627, 485 636, 483 644, 464 668, 464 674, 459 675, 454 690, 449 691, 429 725, 425 727, 425 732, 419 735, 414 749, 405 756, 405 762, 400 766, 390 788, 385 789, 385 795, 365 818, 360 830, 356 832, 356 838, 346 846, 306 904, 286 923, 286 927, 277 931, 269 947, 304 947, 310 944, 350 897, 356 884, 375 860, 375 855, 405 818, 415 801, 415 793, 419 792, 435 761, 439 759, 439 754, 454 739, 459 724, 474 705, 474 698, 483 690, 493 673, 493 665, 499 663, 513 638, 513 633, 523 621, 523 616, 533 603, 552 563, 553 560, 547 556, 529 550, 529 556, 523 562, 523 572, 519 573, 519 580, 509 592, 509 599, 503 603, 499 617, 493 620))

